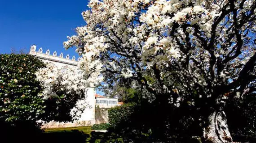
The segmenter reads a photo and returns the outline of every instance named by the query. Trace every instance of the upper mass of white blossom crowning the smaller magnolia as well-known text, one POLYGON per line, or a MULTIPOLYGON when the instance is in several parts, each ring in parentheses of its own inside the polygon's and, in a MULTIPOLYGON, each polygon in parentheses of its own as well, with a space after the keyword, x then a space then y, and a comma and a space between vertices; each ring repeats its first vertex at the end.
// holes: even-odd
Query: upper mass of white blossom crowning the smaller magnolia
POLYGON ((51 63, 47 63, 46 67, 40 68, 35 75, 44 89, 40 95, 44 96, 44 99, 57 96, 58 92, 84 95, 90 84, 84 79, 84 74, 79 69, 68 67, 66 71, 62 71, 51 63))

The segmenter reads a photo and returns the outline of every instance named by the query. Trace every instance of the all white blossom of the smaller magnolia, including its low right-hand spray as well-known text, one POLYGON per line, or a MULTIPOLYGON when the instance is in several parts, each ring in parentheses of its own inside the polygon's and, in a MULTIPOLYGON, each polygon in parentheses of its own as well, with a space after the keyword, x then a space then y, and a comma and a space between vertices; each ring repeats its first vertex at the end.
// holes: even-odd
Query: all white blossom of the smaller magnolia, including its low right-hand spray
MULTIPOLYGON (((101 64, 98 63, 97 68, 101 68, 101 64)), ((38 96, 43 96, 44 99, 49 97, 61 96, 79 96, 75 107, 71 109, 70 115, 73 120, 78 120, 84 109, 88 108, 87 89, 92 85, 98 84, 102 81, 102 76, 97 72, 92 72, 91 75, 86 78, 87 71, 81 71, 79 68, 65 67, 67 70, 62 71, 61 68, 56 67, 52 63, 47 63, 46 67, 40 68, 35 74, 37 80, 40 81, 43 87, 43 92, 38 96)), ((93 67, 92 67, 93 68, 93 67)))

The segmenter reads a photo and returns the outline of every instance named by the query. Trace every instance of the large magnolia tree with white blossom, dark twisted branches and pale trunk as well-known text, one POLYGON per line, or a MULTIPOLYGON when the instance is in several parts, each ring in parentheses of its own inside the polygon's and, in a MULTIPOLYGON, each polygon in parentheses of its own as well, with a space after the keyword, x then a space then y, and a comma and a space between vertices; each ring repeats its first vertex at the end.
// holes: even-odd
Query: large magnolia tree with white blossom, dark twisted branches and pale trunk
POLYGON ((133 78, 150 97, 198 106, 203 137, 232 142, 223 106, 255 91, 255 0, 91 0, 88 6, 86 25, 64 42, 83 55, 87 77, 101 73, 105 84, 133 78))

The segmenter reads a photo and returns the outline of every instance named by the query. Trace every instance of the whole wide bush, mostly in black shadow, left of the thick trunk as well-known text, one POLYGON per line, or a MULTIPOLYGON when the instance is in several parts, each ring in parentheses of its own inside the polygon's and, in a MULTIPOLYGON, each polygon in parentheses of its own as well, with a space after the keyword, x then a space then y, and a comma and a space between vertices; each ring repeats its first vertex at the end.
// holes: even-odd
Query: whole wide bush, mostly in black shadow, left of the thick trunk
POLYGON ((194 108, 181 105, 175 109, 168 99, 156 99, 152 103, 141 100, 109 109, 109 122, 113 131, 124 137, 146 135, 151 139, 165 139, 169 136, 199 136, 198 120, 193 121, 194 108), (188 110, 193 112, 186 112, 188 110), (192 130, 193 129, 193 130, 192 130))

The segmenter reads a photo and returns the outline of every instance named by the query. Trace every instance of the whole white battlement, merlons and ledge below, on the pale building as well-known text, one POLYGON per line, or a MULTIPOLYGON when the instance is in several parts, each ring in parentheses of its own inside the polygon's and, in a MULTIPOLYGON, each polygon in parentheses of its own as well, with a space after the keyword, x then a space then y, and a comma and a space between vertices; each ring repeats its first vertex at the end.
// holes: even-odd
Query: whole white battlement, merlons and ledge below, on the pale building
POLYGON ((58 62, 58 63, 64 63, 64 64, 69 64, 72 66, 77 66, 79 61, 81 60, 81 57, 79 57, 77 60, 75 58, 75 56, 73 56, 70 59, 69 55, 66 55, 66 57, 64 58, 63 53, 61 53, 60 55, 57 55, 57 51, 54 51, 53 54, 51 55, 50 50, 46 50, 46 52, 43 52, 43 48, 39 48, 39 50, 36 51, 36 45, 32 45, 29 51, 30 55, 34 55, 35 57, 39 58, 39 59, 43 59, 43 60, 49 60, 49 61, 53 61, 53 62, 58 62))

